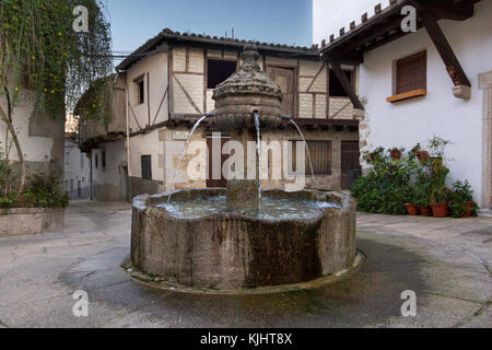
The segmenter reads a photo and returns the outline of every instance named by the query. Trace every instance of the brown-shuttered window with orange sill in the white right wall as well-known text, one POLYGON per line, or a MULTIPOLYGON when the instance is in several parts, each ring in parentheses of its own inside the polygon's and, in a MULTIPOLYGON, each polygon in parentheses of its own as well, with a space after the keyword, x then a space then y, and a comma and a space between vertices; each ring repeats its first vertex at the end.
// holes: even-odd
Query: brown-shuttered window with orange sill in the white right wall
POLYGON ((396 94, 426 89, 427 52, 419 52, 396 62, 396 94))

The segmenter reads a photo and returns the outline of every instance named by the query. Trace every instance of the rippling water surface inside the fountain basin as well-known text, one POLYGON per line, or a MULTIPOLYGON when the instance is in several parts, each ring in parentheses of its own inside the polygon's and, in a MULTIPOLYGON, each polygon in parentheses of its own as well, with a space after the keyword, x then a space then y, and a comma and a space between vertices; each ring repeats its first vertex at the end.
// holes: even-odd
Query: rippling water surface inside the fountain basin
MULTIPOLYGON (((198 219, 227 211, 225 196, 173 200, 156 203, 154 207, 163 208, 180 219, 198 219)), ((316 218, 326 208, 340 207, 326 201, 263 197, 261 198, 261 212, 256 213, 255 217, 267 220, 309 220, 316 218)))

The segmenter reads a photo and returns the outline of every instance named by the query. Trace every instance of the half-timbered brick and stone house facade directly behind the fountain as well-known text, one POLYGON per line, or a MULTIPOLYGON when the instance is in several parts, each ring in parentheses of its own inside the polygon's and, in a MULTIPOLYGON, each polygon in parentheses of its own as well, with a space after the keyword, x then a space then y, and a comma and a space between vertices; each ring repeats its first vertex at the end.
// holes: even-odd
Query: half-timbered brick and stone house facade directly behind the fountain
MULTIPOLYGON (((214 109, 213 89, 237 71, 246 44, 164 30, 117 67, 127 90, 130 198, 173 188, 225 186, 223 178, 212 178, 216 165, 211 160, 221 159, 219 166, 227 160, 220 147, 213 147, 213 140, 221 138, 219 144, 223 144, 229 136, 218 135, 213 125, 204 122, 192 139, 202 144, 200 154, 208 178, 186 176, 190 155, 179 170, 176 166, 191 126, 214 109)), ((307 187, 348 188, 351 173, 359 171, 359 120, 336 75, 320 60, 316 47, 256 45, 259 66, 283 92, 282 114, 297 121, 314 153, 315 183, 308 177, 307 187)), ((354 67, 344 65, 343 70, 356 89, 354 67)), ((265 132, 262 140, 283 144, 281 141, 301 138, 293 127, 283 126, 265 132)), ((272 164, 268 166, 271 172, 272 164)), ((263 187, 282 186, 282 180, 263 182, 263 187)))

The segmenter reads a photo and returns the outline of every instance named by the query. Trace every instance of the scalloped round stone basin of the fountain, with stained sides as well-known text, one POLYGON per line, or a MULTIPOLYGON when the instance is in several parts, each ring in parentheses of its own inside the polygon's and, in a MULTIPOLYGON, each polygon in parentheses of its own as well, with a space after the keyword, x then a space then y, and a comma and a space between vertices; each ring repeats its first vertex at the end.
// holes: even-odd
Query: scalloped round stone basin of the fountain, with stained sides
POLYGON ((206 188, 137 197, 132 277, 244 291, 338 277, 356 267, 350 196, 266 190, 256 215, 227 211, 225 196, 225 189, 206 188))

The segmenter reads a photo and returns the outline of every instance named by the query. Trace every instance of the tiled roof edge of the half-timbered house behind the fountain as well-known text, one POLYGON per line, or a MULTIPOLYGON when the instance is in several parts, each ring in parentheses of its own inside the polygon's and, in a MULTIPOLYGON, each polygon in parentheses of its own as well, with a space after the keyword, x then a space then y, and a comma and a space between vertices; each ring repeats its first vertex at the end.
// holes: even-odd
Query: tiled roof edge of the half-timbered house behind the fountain
POLYGON ((149 39, 145 44, 140 46, 137 50, 130 54, 121 63, 119 63, 116 69, 118 71, 122 71, 128 69, 131 65, 139 61, 152 50, 154 50, 159 45, 164 43, 173 43, 173 44, 189 44, 196 46, 214 46, 216 48, 230 48, 235 50, 242 50, 242 48, 246 44, 256 44, 258 46, 258 51, 268 51, 278 55, 298 55, 298 56, 312 56, 313 58, 317 57, 317 45, 313 45, 311 48, 302 47, 302 46, 289 46, 281 44, 269 44, 261 42, 253 42, 253 40, 244 40, 237 38, 226 38, 226 37, 216 37, 210 35, 201 35, 195 33, 179 33, 173 32, 169 28, 163 30, 159 35, 149 39))

